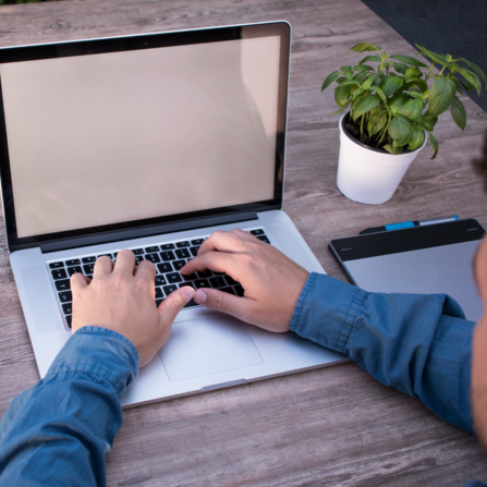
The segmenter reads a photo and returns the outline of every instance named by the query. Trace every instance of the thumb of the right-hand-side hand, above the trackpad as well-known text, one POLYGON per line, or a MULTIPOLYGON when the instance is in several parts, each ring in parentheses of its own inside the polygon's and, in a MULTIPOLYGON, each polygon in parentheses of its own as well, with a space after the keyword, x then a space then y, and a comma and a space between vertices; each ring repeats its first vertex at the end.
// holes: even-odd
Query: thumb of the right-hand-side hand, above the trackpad
POLYGON ((248 297, 238 297, 223 291, 205 288, 198 289, 193 300, 210 309, 227 313, 243 321, 253 322, 252 316, 256 303, 248 297))

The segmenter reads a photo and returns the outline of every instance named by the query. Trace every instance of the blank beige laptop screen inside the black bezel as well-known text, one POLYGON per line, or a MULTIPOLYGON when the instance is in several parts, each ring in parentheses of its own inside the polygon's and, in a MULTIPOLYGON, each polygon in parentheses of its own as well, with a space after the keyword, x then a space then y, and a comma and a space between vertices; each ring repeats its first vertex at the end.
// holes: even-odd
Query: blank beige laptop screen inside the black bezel
POLYGON ((272 199, 280 38, 3 64, 17 236, 272 199))

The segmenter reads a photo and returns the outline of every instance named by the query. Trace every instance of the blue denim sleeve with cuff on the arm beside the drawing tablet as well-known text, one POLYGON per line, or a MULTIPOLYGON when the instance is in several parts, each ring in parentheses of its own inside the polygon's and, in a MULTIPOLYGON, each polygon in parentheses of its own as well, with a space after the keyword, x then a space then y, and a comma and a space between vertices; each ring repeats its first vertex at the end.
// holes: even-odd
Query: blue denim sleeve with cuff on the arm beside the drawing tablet
POLYGON ((471 433, 474 326, 446 294, 368 293, 317 273, 306 281, 290 325, 471 433))

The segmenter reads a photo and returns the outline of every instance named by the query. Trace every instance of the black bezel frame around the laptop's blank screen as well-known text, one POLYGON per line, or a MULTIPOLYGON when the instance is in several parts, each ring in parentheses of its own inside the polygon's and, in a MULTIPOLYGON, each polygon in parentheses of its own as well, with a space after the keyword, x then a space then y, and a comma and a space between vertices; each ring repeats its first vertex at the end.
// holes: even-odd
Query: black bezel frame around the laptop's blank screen
POLYGON ((3 98, 0 80, 0 179, 3 202, 3 215, 9 249, 29 248, 53 241, 76 240, 80 236, 112 233, 117 240, 117 232, 150 227, 160 227, 166 223, 179 221, 194 221, 195 227, 206 217, 227 217, 248 211, 266 211, 280 209, 283 196, 285 127, 288 111, 288 84, 289 84, 289 60, 291 26, 283 21, 246 24, 236 26, 211 27, 195 31, 179 31, 156 34, 142 34, 122 37, 109 37, 101 39, 87 39, 64 42, 52 42, 34 46, 20 46, 0 49, 0 64, 22 62, 41 59, 54 59, 74 56, 87 56, 94 53, 119 52, 138 49, 151 49, 171 46, 183 46, 192 44, 218 42, 223 40, 236 40, 251 37, 280 36, 280 61, 279 61, 279 90, 278 90, 278 133, 276 136, 276 167, 273 198, 261 202, 252 202, 242 205, 211 208, 199 211, 169 215, 148 218, 143 220, 125 221, 100 227, 83 228, 57 233, 32 235, 19 238, 15 223, 15 202, 12 190, 12 176, 8 149, 5 117, 3 111, 3 98), (281 129, 282 127, 282 129, 281 129))

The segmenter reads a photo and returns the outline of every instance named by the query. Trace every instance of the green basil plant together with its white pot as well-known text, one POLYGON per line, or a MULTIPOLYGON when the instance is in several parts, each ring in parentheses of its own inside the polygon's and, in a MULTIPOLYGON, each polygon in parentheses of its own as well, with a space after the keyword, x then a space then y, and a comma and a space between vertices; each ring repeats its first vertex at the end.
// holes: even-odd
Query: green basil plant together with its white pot
POLYGON ((438 154, 433 135, 438 117, 450 109, 462 131, 466 113, 459 95, 476 90, 487 78, 466 59, 436 54, 417 46, 431 64, 405 56, 389 56, 373 44, 357 44, 351 50, 375 52, 355 66, 343 66, 322 83, 321 92, 336 82, 334 100, 349 111, 340 119, 338 188, 350 199, 366 204, 389 200, 413 159, 425 146, 438 154), (377 69, 373 68, 378 63, 377 69), (462 65, 463 63, 464 65, 462 65), (435 64, 441 66, 434 72, 435 64))

